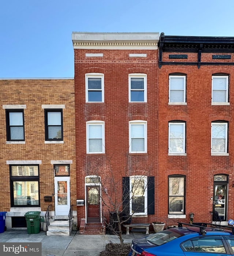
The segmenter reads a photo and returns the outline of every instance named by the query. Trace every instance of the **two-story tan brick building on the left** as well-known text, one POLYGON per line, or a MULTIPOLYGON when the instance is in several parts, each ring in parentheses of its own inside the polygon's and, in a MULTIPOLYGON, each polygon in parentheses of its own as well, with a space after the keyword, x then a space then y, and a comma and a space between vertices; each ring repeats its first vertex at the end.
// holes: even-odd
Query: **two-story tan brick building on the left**
POLYGON ((26 227, 24 214, 49 204, 63 218, 76 205, 74 79, 1 79, 0 88, 6 226, 26 227))

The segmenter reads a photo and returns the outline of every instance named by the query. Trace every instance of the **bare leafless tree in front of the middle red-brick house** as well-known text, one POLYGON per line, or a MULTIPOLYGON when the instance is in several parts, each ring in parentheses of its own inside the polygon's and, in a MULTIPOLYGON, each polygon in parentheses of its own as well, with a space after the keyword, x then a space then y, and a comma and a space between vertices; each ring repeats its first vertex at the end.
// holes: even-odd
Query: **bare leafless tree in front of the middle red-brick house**
MULTIPOLYGON (((85 176, 89 176, 98 188, 102 204, 102 222, 113 234, 119 236, 122 248, 122 224, 129 223, 137 212, 144 212, 148 207, 154 208, 147 205, 144 196, 147 191, 154 197, 154 177, 150 177, 152 169, 153 165, 148 166, 145 159, 126 154, 125 161, 121 164, 116 165, 116 158, 112 155, 104 161, 89 163, 84 170, 85 176), (111 219, 110 213, 115 215, 114 219, 111 219)), ((154 201, 154 198, 152 200, 154 201)))

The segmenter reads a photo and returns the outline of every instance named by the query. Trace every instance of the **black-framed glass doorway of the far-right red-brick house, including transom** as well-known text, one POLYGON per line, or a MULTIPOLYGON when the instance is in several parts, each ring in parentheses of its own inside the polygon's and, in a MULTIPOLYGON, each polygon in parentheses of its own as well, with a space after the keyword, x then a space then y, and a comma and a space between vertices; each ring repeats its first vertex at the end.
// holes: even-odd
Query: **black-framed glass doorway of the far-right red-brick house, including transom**
POLYGON ((224 174, 214 176, 213 221, 227 221, 227 179, 224 174))

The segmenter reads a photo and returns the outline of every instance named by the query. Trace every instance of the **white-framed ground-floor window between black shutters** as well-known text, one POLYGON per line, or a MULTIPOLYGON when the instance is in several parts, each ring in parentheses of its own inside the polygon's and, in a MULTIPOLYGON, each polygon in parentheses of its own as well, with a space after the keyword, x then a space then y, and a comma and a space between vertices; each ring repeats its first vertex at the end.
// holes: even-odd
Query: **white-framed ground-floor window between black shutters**
POLYGON ((130 177, 130 214, 147 214, 147 177, 130 177))

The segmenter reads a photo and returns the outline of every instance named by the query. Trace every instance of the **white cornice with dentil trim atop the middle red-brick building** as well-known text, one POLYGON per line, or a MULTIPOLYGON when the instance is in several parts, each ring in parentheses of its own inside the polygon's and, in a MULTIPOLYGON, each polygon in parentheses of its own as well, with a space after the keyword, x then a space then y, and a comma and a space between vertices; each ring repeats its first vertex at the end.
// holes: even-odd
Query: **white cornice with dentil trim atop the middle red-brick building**
POLYGON ((159 33, 73 32, 74 49, 158 49, 159 33))

